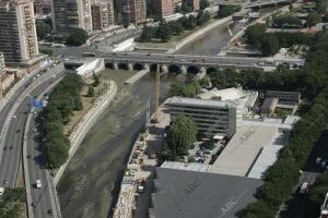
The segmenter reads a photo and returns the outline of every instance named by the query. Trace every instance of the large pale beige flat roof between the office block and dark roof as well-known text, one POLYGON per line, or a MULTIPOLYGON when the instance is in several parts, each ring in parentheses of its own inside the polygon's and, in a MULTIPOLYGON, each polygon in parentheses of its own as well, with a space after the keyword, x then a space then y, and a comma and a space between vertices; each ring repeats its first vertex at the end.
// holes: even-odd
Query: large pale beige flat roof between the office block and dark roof
POLYGON ((213 164, 211 172, 247 175, 261 149, 273 143, 278 131, 277 126, 243 123, 213 164))

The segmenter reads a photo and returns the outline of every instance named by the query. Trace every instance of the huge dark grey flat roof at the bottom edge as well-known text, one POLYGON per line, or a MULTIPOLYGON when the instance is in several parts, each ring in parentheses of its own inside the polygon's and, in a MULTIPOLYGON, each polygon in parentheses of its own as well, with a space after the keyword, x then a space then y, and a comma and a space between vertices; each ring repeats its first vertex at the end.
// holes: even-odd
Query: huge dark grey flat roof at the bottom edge
POLYGON ((157 168, 156 174, 154 208, 150 208, 150 217, 155 218, 235 218, 255 201, 262 184, 257 179, 166 168, 157 168))

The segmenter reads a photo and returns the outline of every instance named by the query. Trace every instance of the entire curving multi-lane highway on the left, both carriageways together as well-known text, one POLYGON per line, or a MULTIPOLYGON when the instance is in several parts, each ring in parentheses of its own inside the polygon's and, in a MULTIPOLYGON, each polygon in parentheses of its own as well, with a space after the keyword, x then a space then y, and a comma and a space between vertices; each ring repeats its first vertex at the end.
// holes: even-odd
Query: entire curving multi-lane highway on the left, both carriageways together
MULTIPOLYGON (((25 181, 26 184, 31 183, 32 186, 27 186, 30 192, 27 193, 28 205, 33 203, 35 208, 32 210, 33 217, 45 217, 48 210, 51 209, 54 216, 57 216, 56 199, 57 196, 54 186, 51 186, 51 178, 49 177, 49 170, 46 167, 46 158, 40 156, 44 150, 39 150, 37 144, 33 141, 35 137, 28 135, 27 150, 28 155, 23 156, 23 138, 24 130, 27 117, 31 116, 31 100, 35 97, 43 97, 45 90, 51 87, 52 84, 60 81, 63 76, 62 64, 49 70, 39 77, 26 80, 24 84, 15 92, 9 102, 0 111, 0 186, 15 187, 17 185, 19 169, 22 164, 22 158, 26 158, 30 179, 25 181), (44 189, 34 190, 33 182, 35 177, 45 178, 44 189), (47 187, 47 189, 46 189, 47 187), (32 190, 32 191, 31 191, 32 190), (30 195, 30 196, 28 196, 30 195), (39 202, 38 202, 39 199, 39 202), (47 209, 46 209, 47 208, 47 209)), ((34 116, 34 114, 33 114, 34 116)), ((28 134, 32 132, 35 134, 33 125, 27 126, 28 134)), ((25 174, 26 172, 24 172, 25 174)), ((31 217, 31 216, 30 216, 31 217)))

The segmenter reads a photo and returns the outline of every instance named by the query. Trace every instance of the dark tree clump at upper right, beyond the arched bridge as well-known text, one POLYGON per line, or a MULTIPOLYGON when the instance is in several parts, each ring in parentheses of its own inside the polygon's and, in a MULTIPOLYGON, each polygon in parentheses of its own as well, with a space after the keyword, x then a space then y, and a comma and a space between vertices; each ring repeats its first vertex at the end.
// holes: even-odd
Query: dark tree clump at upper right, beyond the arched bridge
POLYGON ((315 35, 306 33, 266 33, 265 24, 249 26, 245 32, 247 44, 261 50, 265 56, 277 53, 280 48, 292 47, 295 45, 314 44, 315 35))

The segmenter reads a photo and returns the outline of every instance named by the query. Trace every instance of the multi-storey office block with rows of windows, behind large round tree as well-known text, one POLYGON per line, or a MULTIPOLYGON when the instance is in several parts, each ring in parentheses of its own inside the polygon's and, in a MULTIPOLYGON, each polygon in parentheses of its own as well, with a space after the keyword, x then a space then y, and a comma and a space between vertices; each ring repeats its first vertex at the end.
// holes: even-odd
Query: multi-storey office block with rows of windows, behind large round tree
POLYGON ((236 108, 230 102, 172 97, 166 101, 171 119, 187 116, 206 137, 231 137, 236 132, 236 108))

